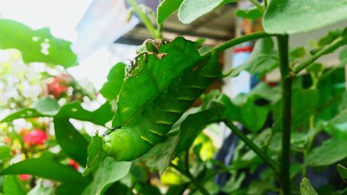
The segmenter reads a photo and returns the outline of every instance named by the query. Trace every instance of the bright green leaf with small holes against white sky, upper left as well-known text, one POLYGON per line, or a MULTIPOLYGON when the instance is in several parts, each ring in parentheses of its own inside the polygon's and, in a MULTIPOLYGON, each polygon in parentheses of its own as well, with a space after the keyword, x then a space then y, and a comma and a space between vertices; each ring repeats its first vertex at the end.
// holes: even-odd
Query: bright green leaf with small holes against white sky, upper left
POLYGON ((0 31, 0 49, 19 49, 24 62, 46 62, 66 68, 77 65, 71 42, 53 37, 49 28, 33 31, 22 23, 0 19, 0 31))

